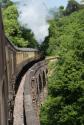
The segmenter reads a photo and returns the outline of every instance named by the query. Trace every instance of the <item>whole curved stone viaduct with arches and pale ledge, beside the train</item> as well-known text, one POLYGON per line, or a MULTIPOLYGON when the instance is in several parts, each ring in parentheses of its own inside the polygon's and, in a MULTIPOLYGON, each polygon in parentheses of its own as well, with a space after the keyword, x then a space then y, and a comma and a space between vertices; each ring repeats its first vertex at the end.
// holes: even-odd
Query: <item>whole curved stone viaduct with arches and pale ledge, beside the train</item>
POLYGON ((15 98, 14 125, 40 125, 40 106, 46 96, 47 63, 39 61, 29 68, 20 82, 15 98))

